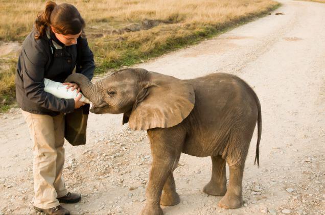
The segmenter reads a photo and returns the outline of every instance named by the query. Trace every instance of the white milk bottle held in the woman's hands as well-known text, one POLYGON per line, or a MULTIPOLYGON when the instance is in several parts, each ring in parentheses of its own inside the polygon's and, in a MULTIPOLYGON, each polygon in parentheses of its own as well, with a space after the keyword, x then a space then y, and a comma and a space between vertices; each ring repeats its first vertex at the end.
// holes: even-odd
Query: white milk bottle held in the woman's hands
POLYGON ((44 87, 45 92, 49 92, 59 99, 74 99, 79 94, 81 94, 82 97, 79 101, 89 104, 89 100, 86 97, 84 97, 84 95, 81 92, 77 92, 77 89, 73 91, 71 90, 71 88, 66 89, 66 85, 63 85, 60 82, 51 81, 50 79, 46 79, 46 78, 44 78, 44 85, 45 85, 44 87))

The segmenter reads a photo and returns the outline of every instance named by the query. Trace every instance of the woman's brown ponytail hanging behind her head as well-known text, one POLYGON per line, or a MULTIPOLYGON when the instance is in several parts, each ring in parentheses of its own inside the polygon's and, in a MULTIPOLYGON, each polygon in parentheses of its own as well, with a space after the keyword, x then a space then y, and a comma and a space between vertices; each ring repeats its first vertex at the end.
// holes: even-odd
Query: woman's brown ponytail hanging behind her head
POLYGON ((39 39, 45 35, 47 27, 51 25, 51 14, 56 6, 57 4, 55 2, 47 2, 45 4, 45 10, 37 16, 35 20, 35 39, 39 39))

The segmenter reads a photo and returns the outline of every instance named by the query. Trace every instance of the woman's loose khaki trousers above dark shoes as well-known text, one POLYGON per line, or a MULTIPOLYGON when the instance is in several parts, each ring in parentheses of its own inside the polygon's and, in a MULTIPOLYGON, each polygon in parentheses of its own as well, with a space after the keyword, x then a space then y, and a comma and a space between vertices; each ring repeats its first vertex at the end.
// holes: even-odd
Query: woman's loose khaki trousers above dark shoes
POLYGON ((34 206, 52 208, 65 196, 62 177, 64 164, 64 114, 33 114, 21 110, 33 140, 34 206))

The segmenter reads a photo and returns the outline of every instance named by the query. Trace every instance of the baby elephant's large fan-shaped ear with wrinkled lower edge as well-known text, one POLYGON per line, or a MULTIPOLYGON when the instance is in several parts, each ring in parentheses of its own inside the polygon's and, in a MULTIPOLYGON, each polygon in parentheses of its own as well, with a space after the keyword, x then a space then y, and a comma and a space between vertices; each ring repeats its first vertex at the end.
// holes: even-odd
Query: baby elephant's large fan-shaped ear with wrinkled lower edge
POLYGON ((150 72, 149 83, 134 103, 129 117, 131 129, 173 127, 181 123, 194 108, 193 86, 187 81, 150 72))

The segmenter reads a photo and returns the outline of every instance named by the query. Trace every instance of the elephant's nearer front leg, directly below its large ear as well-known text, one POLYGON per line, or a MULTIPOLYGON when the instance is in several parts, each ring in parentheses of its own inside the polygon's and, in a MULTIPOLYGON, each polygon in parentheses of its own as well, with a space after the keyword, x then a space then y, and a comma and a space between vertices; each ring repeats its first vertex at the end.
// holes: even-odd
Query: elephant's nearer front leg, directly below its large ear
POLYGON ((146 190, 146 205, 142 215, 161 215, 160 196, 167 182, 167 194, 175 192, 175 182, 172 178, 174 164, 179 158, 185 133, 175 132, 175 129, 148 130, 152 153, 152 165, 146 190))

